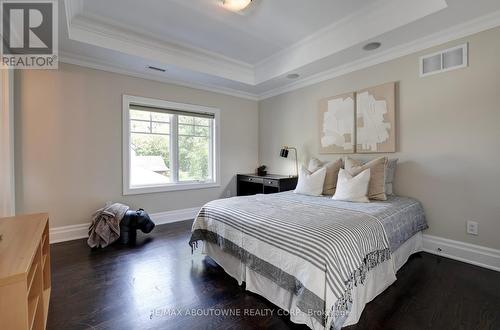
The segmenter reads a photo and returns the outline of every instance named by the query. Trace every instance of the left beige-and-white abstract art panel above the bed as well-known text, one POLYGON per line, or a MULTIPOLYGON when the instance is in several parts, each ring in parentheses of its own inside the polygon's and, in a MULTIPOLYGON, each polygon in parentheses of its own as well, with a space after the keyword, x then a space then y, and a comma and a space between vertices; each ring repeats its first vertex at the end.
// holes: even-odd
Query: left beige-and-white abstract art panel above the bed
POLYGON ((319 105, 319 153, 354 153, 354 93, 326 98, 319 105))

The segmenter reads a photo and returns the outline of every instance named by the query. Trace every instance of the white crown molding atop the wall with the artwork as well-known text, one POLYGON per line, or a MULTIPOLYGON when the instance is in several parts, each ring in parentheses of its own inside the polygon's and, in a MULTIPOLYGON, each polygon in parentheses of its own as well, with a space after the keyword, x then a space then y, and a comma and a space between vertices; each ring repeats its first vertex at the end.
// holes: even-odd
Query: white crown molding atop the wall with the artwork
POLYGON ((273 96, 288 93, 300 88, 343 76, 351 72, 359 71, 377 64, 395 60, 397 58, 411 55, 413 53, 436 47, 457 39, 465 38, 467 36, 495 28, 497 26, 500 26, 500 11, 496 11, 477 19, 455 25, 449 29, 408 42, 404 45, 387 49, 372 56, 368 56, 351 63, 338 66, 309 77, 305 77, 303 79, 299 79, 285 86, 260 93, 259 100, 265 100, 273 96))

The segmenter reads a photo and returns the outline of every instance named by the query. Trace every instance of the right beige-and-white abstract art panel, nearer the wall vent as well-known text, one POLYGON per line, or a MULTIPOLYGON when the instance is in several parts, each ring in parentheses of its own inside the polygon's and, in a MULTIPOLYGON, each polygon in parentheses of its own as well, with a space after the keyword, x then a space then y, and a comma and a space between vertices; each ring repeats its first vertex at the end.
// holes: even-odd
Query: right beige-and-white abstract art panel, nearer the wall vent
POLYGON ((396 152, 395 83, 356 93, 356 152, 396 152))

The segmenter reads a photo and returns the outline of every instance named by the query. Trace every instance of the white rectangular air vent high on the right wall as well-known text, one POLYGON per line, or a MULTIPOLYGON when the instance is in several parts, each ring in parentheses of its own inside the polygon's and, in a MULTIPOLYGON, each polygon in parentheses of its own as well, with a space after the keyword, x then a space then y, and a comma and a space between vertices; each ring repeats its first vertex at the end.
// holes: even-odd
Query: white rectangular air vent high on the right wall
POLYGON ((468 45, 448 48, 420 58, 420 77, 464 68, 468 65, 468 45))

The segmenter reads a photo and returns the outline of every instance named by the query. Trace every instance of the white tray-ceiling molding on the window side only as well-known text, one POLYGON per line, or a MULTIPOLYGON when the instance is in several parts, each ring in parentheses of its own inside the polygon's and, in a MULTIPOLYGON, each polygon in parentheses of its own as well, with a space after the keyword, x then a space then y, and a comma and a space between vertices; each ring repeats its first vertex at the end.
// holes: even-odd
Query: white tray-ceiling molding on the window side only
POLYGON ((68 36, 90 45, 175 64, 245 84, 255 84, 253 65, 179 42, 95 14, 84 13, 83 0, 64 0, 68 36))

